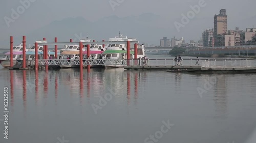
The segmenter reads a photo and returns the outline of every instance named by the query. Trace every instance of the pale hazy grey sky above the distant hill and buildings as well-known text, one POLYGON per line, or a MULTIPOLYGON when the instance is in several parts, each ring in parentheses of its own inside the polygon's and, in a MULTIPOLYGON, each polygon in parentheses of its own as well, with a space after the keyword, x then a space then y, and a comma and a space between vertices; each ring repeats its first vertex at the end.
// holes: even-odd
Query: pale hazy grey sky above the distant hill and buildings
MULTIPOLYGON (((46 26, 55 20, 62 20, 69 17, 82 16, 90 21, 96 21, 100 18, 117 15, 118 17, 138 16, 143 13, 154 13, 161 17, 156 26, 176 29, 174 22, 181 22, 181 14, 187 14, 189 6, 198 5, 203 0, 111 0, 114 3, 120 3, 115 6, 114 10, 110 5, 109 0, 1 0, 0 1, 0 38, 8 39, 10 35, 22 35, 31 32, 36 28, 46 26), (11 18, 12 10, 17 12, 17 8, 22 6, 20 1, 30 1, 30 6, 24 13, 10 22, 8 27, 5 16, 11 18), (35 2, 32 2, 35 1, 35 2)), ((228 29, 240 27, 256 27, 256 1, 255 0, 207 0, 206 6, 201 7, 201 10, 194 18, 191 18, 185 27, 172 33, 163 33, 159 36, 159 40, 163 36, 171 38, 173 36, 183 36, 186 42, 188 40, 199 40, 201 33, 205 28, 214 26, 213 17, 219 14, 220 9, 226 9, 228 15, 228 29), (193 31, 194 27, 197 31, 193 31), (189 33, 189 34, 188 34, 189 33), (195 35, 195 36, 193 36, 195 35)), ((22 11, 22 8, 20 8, 22 11)), ((10 19, 9 19, 10 20, 10 19)), ((156 22, 156 21, 155 21, 156 22)), ((112 37, 112 35, 110 35, 112 37)), ((133 36, 136 37, 136 36, 133 36)), ((147 35, 145 35, 147 37, 147 35)), ((150 37, 148 37, 150 38, 150 37)), ((153 43, 157 44, 157 43, 153 43)), ((0 46, 1 47, 1 46, 0 46)))

